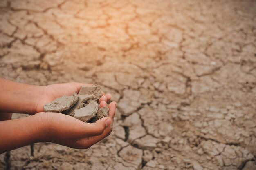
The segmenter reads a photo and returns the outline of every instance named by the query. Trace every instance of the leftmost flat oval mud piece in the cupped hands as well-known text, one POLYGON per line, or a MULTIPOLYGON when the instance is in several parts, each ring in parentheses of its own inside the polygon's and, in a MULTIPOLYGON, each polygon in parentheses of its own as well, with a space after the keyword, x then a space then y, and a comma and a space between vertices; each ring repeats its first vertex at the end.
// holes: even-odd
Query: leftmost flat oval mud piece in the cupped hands
POLYGON ((45 104, 44 111, 58 113, 65 112, 76 104, 77 100, 78 97, 76 93, 73 93, 72 96, 63 95, 62 97, 58 97, 54 101, 45 104))

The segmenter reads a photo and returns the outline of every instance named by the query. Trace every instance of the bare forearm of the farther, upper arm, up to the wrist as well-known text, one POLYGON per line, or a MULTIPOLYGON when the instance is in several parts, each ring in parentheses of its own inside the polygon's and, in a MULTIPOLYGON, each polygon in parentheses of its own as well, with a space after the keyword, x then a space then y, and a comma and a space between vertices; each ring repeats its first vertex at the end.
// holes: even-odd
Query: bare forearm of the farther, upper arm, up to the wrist
POLYGON ((40 86, 12 82, 0 78, 0 112, 35 113, 40 86))

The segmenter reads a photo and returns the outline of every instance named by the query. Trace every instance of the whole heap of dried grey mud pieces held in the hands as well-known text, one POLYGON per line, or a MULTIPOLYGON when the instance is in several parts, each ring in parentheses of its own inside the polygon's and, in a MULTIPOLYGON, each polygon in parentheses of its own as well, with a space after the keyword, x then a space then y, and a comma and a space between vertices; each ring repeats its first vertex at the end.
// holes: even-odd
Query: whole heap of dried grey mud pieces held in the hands
POLYGON ((95 122, 102 117, 108 117, 107 106, 99 108, 98 100, 101 97, 101 87, 96 86, 81 86, 81 89, 76 95, 63 95, 56 98, 54 101, 45 104, 45 112, 58 112, 70 115, 83 122, 95 122))

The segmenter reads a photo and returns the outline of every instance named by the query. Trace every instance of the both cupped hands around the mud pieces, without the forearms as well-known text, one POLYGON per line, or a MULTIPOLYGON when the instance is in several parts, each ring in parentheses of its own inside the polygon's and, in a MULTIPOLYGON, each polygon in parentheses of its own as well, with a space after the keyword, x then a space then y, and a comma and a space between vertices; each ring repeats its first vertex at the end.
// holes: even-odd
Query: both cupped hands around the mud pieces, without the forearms
POLYGON ((39 120, 43 122, 45 126, 46 140, 69 146, 72 148, 90 148, 93 144, 102 140, 108 136, 112 131, 112 124, 115 117, 116 102, 111 102, 107 105, 107 101, 110 100, 111 95, 102 92, 102 96, 99 99, 99 107, 108 106, 108 117, 104 117, 89 124, 84 123, 74 117, 64 115, 61 113, 44 113, 43 106, 57 97, 62 95, 72 95, 72 93, 78 93, 81 85, 91 86, 91 84, 81 83, 65 83, 65 84, 53 84, 49 86, 42 86, 40 90, 40 99, 36 105, 36 116, 39 116, 39 120), (107 123, 108 122, 108 123, 107 123), (58 135, 56 135, 58 134, 58 135), (65 140, 63 140, 65 139, 65 140))

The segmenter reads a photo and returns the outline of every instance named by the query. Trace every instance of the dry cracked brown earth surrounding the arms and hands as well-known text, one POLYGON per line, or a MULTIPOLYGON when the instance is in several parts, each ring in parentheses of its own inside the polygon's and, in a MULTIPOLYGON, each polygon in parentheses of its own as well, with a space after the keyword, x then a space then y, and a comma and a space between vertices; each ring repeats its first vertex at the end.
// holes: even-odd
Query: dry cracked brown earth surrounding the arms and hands
POLYGON ((255 0, 1 0, 0 13, 0 77, 97 83, 118 102, 99 144, 25 146, 0 169, 255 170, 255 0))

